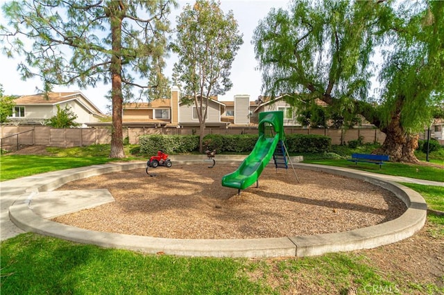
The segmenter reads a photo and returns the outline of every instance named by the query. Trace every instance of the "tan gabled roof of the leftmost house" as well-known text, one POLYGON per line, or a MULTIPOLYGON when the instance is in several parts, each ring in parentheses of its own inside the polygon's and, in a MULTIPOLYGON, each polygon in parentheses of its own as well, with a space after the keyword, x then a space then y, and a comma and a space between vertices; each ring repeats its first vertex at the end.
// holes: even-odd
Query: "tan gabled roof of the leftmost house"
POLYGON ((78 100, 78 96, 81 96, 84 100, 86 100, 89 106, 87 109, 91 109, 95 114, 103 116, 101 110, 94 105, 86 96, 83 95, 80 91, 72 91, 72 92, 49 92, 48 97, 44 97, 44 93, 37 93, 31 96, 20 96, 15 99, 16 105, 58 105, 61 102, 68 102, 70 100, 77 100, 80 104, 83 105, 83 102, 78 100))

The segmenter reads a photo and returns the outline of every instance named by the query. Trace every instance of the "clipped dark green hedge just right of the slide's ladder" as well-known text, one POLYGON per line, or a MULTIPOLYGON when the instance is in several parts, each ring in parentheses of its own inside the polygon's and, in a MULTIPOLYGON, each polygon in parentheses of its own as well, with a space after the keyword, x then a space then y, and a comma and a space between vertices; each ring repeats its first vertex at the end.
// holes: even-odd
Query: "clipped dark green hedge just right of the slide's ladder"
POLYGON ((286 145, 289 152, 328 152, 332 145, 332 138, 323 135, 289 134, 286 145))

